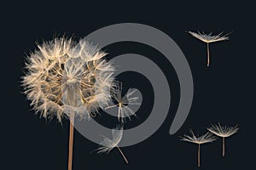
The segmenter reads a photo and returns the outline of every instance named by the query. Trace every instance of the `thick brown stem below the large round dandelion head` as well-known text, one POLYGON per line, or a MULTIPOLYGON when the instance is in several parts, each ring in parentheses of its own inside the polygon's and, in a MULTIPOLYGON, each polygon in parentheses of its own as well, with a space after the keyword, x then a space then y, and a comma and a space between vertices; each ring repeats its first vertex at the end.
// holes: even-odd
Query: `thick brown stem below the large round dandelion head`
POLYGON ((72 170, 72 161, 73 161, 73 122, 74 122, 74 115, 70 114, 68 170, 72 170))

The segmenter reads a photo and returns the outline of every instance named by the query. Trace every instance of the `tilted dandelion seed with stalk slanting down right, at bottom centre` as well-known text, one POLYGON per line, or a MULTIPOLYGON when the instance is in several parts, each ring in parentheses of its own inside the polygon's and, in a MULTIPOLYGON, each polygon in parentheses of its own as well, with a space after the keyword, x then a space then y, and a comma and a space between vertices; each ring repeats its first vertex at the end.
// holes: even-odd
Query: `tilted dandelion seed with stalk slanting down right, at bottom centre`
POLYGON ((116 129, 112 129, 112 136, 113 139, 108 139, 107 137, 103 136, 104 139, 101 143, 102 146, 97 149, 99 150, 97 153, 106 152, 108 154, 111 150, 113 150, 113 148, 117 148, 120 154, 123 156, 125 162, 128 163, 125 154, 122 152, 118 145, 123 136, 123 127, 117 127, 116 129))

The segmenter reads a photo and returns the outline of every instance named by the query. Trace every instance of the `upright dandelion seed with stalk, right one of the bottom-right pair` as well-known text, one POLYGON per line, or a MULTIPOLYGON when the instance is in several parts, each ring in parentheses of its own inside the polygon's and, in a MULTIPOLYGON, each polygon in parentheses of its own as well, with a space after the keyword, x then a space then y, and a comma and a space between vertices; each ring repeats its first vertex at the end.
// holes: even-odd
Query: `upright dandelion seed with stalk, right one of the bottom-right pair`
POLYGON ((222 156, 225 156, 225 138, 238 132, 238 125, 235 127, 221 126, 220 123, 207 128, 208 131, 222 138, 222 156))

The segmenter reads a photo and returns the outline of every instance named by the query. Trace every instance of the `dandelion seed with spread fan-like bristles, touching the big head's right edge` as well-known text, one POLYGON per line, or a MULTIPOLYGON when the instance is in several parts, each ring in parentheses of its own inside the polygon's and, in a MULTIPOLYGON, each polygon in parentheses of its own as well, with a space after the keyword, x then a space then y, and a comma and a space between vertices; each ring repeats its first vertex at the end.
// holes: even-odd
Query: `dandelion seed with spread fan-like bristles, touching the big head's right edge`
POLYGON ((110 105, 105 108, 105 110, 118 107, 118 120, 119 122, 124 122, 125 116, 127 116, 130 120, 130 115, 136 116, 135 112, 131 110, 128 105, 141 105, 140 103, 137 103, 138 97, 132 97, 132 95, 137 90, 131 90, 131 88, 127 91, 127 93, 122 96, 122 83, 117 82, 115 83, 115 87, 113 88, 113 94, 112 97, 114 99, 114 102, 117 103, 116 105, 110 105))

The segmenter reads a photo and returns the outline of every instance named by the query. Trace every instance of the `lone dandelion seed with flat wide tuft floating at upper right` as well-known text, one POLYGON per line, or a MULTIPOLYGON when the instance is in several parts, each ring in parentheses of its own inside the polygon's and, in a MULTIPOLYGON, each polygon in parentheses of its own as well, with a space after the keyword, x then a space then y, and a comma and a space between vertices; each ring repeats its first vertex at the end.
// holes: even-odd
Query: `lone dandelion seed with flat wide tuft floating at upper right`
POLYGON ((227 35, 222 35, 222 33, 219 33, 216 36, 212 36, 212 33, 205 34, 204 32, 198 31, 198 33, 189 31, 189 34, 191 34, 193 37, 196 37, 197 39, 201 40, 202 42, 207 43, 207 66, 210 66, 210 49, 209 49, 209 43, 211 42, 220 42, 220 41, 225 41, 229 40, 229 37, 227 35))

